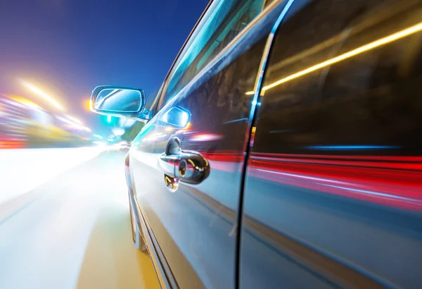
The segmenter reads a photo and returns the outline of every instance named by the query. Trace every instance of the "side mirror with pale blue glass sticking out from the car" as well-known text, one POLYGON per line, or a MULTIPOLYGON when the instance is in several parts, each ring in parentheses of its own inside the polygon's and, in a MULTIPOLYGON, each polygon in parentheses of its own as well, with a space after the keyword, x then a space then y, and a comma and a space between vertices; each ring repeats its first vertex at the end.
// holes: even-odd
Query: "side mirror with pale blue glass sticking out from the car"
POLYGON ((91 111, 110 116, 127 116, 148 121, 145 92, 133 87, 97 86, 91 94, 91 111))

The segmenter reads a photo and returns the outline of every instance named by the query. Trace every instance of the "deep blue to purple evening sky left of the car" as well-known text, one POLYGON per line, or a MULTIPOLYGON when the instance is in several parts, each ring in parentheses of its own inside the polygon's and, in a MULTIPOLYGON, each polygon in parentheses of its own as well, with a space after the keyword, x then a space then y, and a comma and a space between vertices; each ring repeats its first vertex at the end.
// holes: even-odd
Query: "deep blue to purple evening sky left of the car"
POLYGON ((208 0, 1 0, 0 93, 52 106, 23 78, 102 130, 85 101, 96 85, 154 97, 208 0))

